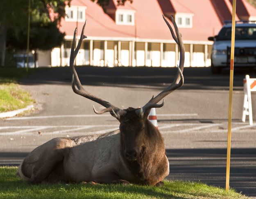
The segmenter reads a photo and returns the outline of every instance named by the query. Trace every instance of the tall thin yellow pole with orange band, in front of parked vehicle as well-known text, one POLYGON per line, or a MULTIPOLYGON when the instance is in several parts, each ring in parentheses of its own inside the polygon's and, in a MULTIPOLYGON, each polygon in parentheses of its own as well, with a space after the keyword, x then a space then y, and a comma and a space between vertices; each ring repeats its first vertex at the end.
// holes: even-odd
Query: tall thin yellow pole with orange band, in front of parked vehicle
POLYGON ((233 0, 231 53, 230 53, 230 77, 229 77, 229 121, 228 121, 228 140, 227 140, 226 190, 229 190, 229 172, 230 172, 232 97, 233 97, 233 76, 234 76, 234 70, 233 70, 233 69, 234 69, 234 48, 235 48, 235 27, 236 27, 236 0, 233 0))

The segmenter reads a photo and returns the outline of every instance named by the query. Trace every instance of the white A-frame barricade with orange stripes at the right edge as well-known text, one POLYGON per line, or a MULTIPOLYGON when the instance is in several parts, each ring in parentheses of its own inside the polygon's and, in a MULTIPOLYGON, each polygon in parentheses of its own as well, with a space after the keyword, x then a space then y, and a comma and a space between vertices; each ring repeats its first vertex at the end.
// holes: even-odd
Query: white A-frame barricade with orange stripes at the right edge
POLYGON ((256 79, 245 75, 244 79, 244 106, 242 111, 242 122, 245 122, 246 115, 249 115, 249 124, 252 125, 251 92, 256 91, 256 79))

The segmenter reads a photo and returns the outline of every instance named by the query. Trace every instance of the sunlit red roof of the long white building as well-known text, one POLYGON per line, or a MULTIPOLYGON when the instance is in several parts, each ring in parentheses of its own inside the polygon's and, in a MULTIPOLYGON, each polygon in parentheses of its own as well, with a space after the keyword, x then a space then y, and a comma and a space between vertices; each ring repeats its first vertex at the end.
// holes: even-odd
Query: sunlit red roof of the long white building
MULTIPOLYGON (((229 0, 147 0, 147 3, 142 0, 134 0, 132 4, 126 2, 125 6, 118 6, 116 0, 110 2, 107 9, 135 11, 135 25, 116 25, 113 17, 104 13, 103 9, 91 0, 72 0, 71 5, 87 7, 86 36, 172 40, 170 31, 162 18, 163 13, 169 12, 193 14, 193 28, 179 28, 184 41, 207 41, 208 36, 218 33, 223 20, 230 19, 230 8, 232 8, 229 0), (220 15, 220 13, 222 14, 220 15)), ((238 2, 242 2, 246 6, 247 13, 256 16, 254 7, 248 6, 245 0, 238 0, 238 2)), ((245 10, 239 12, 244 13, 245 10)), ((82 22, 78 23, 78 32, 81 31, 82 25, 82 22)), ((75 27, 76 22, 63 20, 60 29, 65 31, 66 35, 72 36, 75 27)))

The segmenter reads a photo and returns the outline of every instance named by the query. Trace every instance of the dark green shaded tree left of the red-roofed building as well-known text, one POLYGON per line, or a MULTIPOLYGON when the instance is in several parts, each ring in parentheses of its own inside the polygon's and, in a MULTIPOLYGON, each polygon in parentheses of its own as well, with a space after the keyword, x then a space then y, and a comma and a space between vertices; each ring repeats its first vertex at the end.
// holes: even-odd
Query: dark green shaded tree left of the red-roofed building
MULTIPOLYGON (((30 50, 48 50, 59 46, 64 34, 58 29, 65 17, 65 2, 71 0, 31 0, 30 50), (53 11, 54 18, 50 15, 53 11)), ((0 6, 0 66, 5 64, 6 46, 26 49, 29 0, 1 0, 0 6)))

